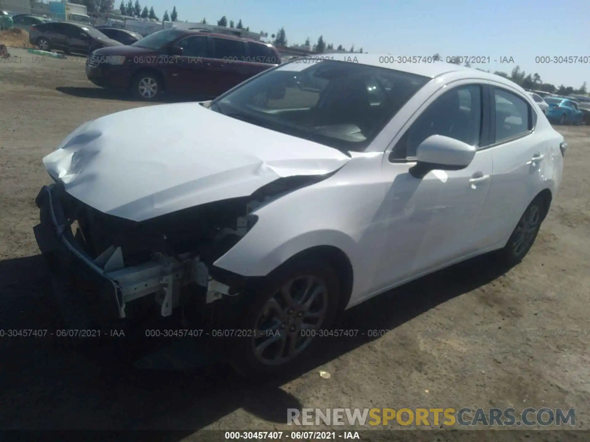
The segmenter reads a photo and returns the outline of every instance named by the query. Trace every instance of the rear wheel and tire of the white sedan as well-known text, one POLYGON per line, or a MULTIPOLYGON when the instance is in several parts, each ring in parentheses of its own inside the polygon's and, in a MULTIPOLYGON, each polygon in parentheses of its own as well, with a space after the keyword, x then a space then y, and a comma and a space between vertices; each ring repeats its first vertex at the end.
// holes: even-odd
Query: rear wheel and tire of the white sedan
POLYGON ((545 200, 540 196, 537 196, 529 204, 520 217, 518 224, 514 227, 506 246, 499 250, 500 259, 503 263, 512 267, 525 258, 533 243, 535 243, 548 209, 545 200))

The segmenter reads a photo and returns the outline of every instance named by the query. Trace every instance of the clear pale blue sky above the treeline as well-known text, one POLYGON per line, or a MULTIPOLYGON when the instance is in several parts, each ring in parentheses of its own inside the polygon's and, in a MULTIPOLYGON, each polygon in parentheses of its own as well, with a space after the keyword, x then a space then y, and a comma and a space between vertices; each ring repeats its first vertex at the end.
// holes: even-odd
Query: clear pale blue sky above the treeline
MULTIPOLYGON (((135 0, 134 0, 135 1, 135 0)), ((120 0, 115 0, 116 7, 120 0)), ((161 18, 176 6, 182 21, 210 24, 225 15, 241 18, 250 31, 275 34, 284 27, 289 44, 316 42, 320 35, 335 47, 352 44, 371 54, 402 56, 480 55, 484 70, 510 72, 520 65, 543 82, 578 88, 588 81, 587 64, 537 64, 535 57, 590 59, 590 0, 140 0, 161 18), (500 64, 512 57, 514 64, 500 64), (498 60, 498 62, 494 62, 498 60)), ((444 60, 444 58, 443 58, 444 60)))

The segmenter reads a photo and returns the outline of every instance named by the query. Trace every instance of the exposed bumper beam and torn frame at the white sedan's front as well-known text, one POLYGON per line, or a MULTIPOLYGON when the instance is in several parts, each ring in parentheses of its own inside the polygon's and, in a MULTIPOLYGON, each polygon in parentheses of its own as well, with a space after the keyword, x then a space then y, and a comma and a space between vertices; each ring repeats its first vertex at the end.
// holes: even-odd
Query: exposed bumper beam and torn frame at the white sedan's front
POLYGON ((230 287, 212 279, 207 265, 191 253, 178 259, 158 253, 149 262, 132 267, 124 266, 120 248, 111 247, 96 259, 91 258, 71 232, 63 194, 59 184, 41 189, 35 199, 40 224, 34 232, 51 271, 60 281, 67 282, 60 286, 60 297, 67 298, 68 305, 76 306, 64 315, 101 324, 125 318, 128 302, 153 295, 160 304, 160 314, 169 316, 181 304, 181 288, 191 283, 203 288, 205 303, 228 294, 230 287))

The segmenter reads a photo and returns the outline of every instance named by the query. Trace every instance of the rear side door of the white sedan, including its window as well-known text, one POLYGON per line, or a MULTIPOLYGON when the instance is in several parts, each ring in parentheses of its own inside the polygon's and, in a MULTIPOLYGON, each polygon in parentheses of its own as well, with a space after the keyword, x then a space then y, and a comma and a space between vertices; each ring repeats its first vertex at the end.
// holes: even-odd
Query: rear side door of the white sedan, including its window
POLYGON ((543 188, 550 151, 543 134, 534 131, 537 115, 523 94, 498 85, 491 88, 490 102, 494 179, 480 224, 493 232, 494 242, 505 242, 543 188))

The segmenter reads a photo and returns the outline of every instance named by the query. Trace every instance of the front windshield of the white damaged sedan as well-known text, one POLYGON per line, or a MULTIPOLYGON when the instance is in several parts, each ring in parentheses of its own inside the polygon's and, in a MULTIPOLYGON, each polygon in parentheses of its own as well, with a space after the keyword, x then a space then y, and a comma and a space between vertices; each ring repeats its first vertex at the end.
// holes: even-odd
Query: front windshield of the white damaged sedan
POLYGON ((283 64, 211 110, 341 151, 362 151, 430 78, 357 62, 283 64))

